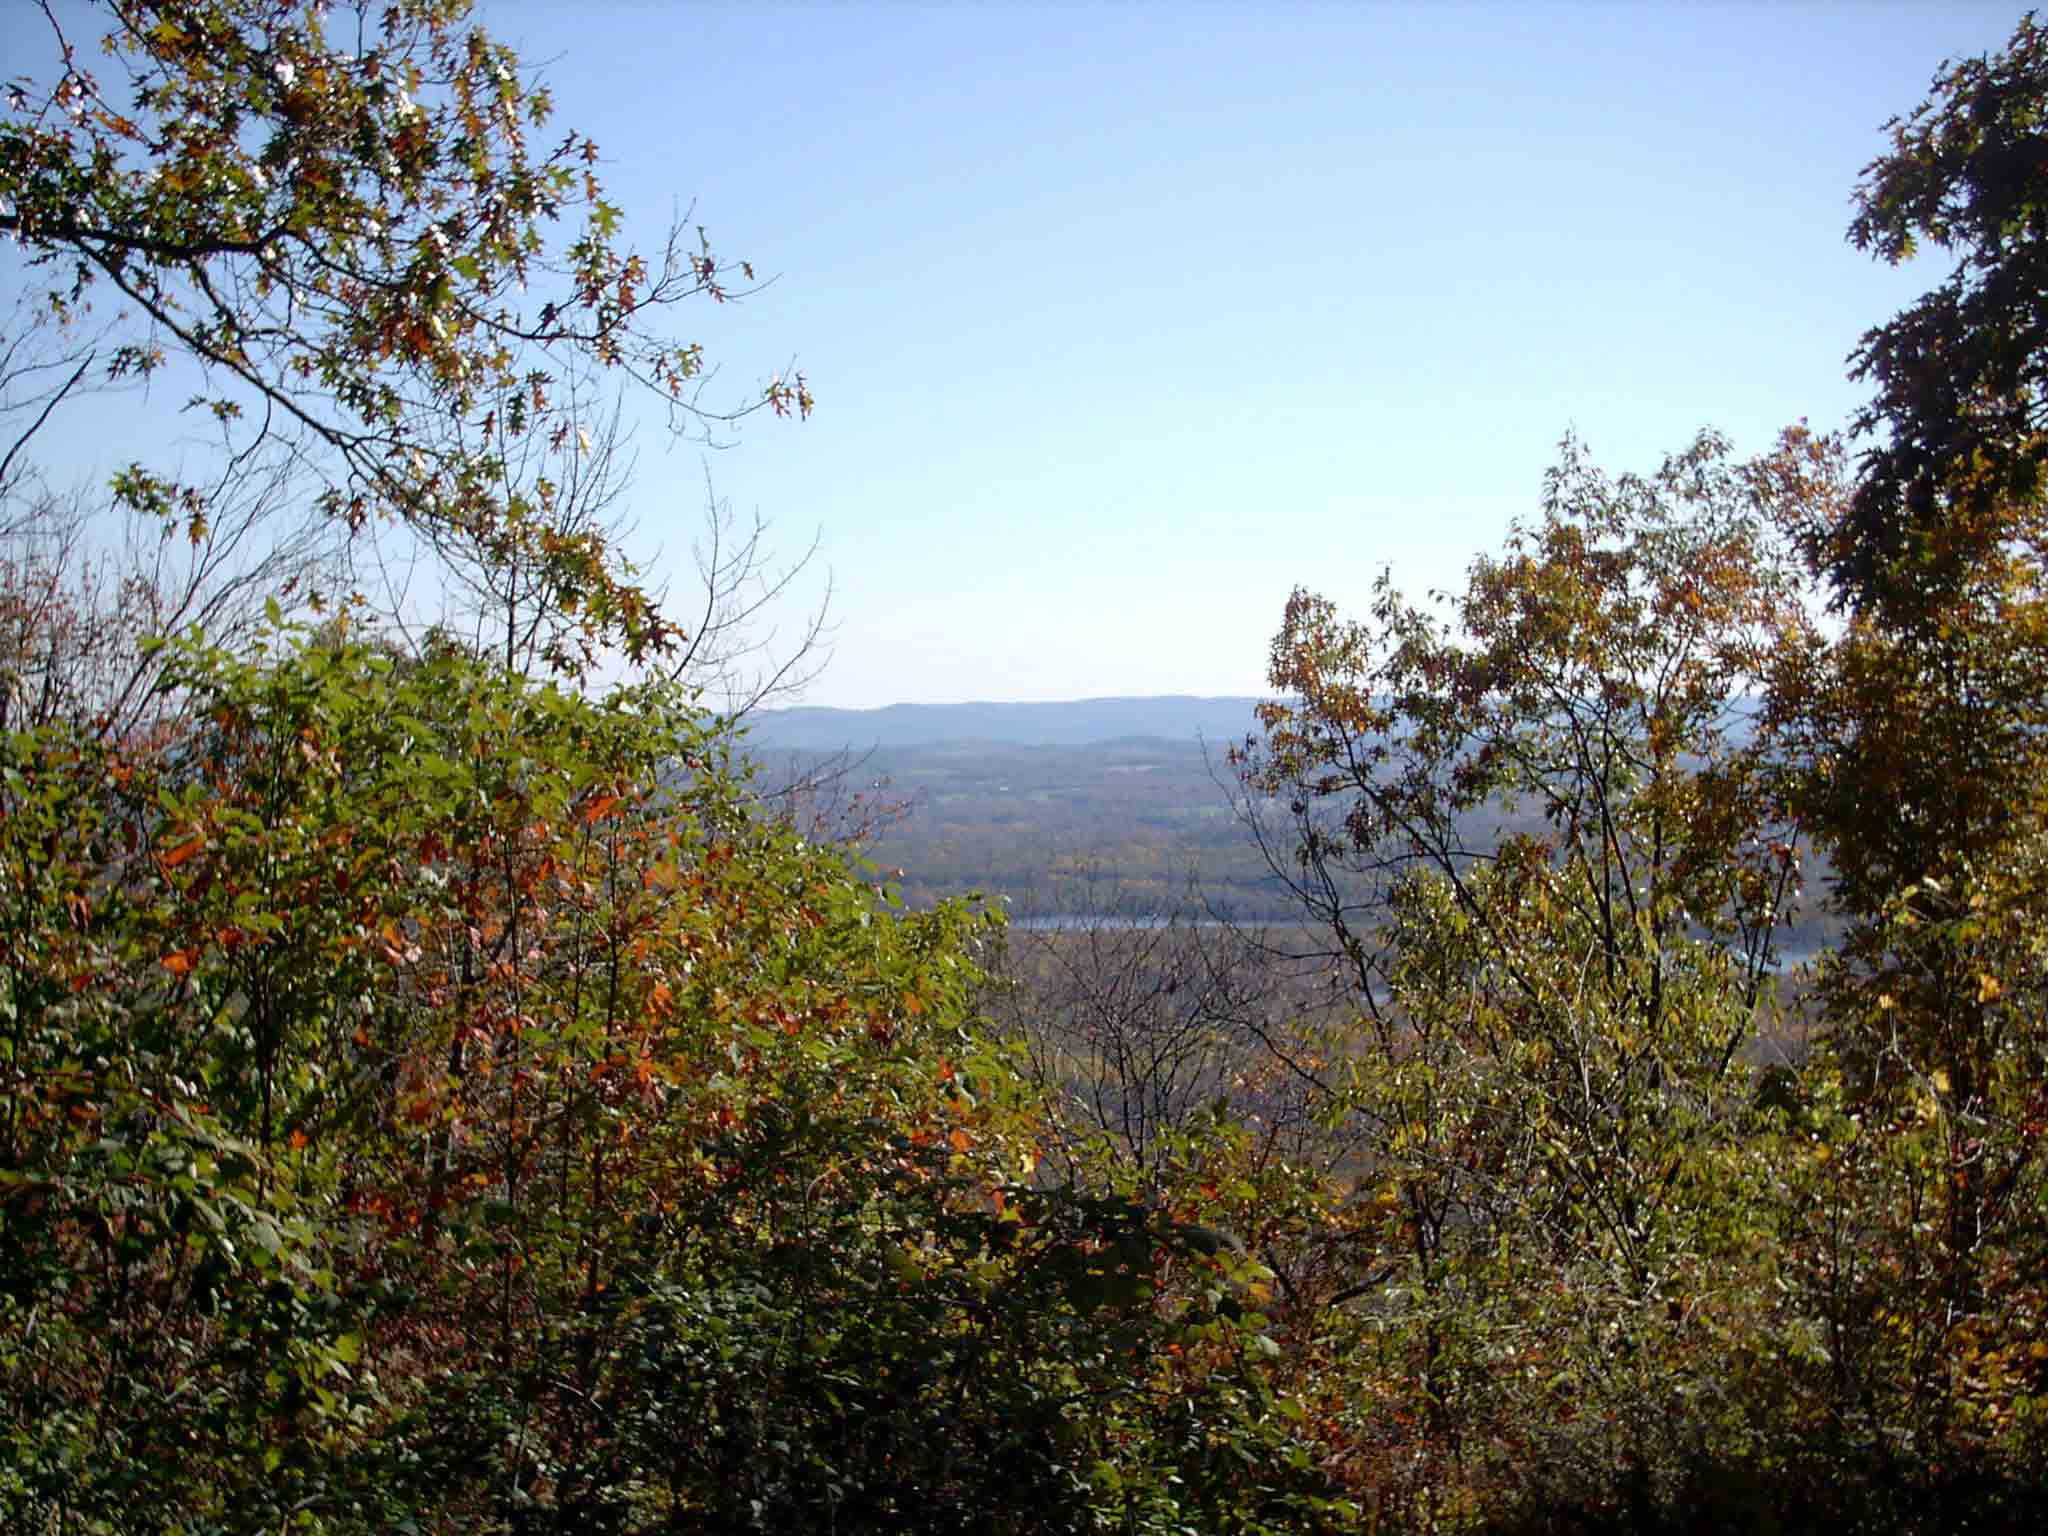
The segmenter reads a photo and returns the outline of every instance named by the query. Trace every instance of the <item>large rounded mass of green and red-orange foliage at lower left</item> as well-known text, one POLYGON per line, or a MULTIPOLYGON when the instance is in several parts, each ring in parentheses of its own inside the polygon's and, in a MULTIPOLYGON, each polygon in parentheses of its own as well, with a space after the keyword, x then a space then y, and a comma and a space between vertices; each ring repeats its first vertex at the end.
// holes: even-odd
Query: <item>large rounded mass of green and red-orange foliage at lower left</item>
POLYGON ((174 752, 0 743, 10 1524, 1255 1530, 1333 1495, 1274 1462, 1255 1266, 1022 1182, 981 922, 879 907, 674 690, 334 631, 174 674, 174 752))

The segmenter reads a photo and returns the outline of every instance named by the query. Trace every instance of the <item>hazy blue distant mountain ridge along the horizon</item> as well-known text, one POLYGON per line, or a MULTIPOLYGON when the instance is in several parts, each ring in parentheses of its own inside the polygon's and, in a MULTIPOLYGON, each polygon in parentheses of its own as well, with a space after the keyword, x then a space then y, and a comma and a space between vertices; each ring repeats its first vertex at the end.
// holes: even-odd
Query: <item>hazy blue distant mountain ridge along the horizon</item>
POLYGON ((764 709, 745 719, 748 745, 772 752, 928 748, 1001 741, 1030 748, 1085 748, 1118 737, 1237 741, 1255 721, 1253 696, 1149 694, 1030 705, 885 705, 883 709, 764 709))

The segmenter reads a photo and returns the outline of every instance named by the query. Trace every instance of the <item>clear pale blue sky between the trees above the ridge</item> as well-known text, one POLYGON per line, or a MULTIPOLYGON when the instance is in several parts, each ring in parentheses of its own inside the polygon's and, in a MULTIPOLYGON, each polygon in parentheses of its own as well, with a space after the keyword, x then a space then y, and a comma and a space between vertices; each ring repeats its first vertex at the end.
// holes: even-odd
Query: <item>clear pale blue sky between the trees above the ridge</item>
MULTIPOLYGON (((1858 172, 2017 14, 479 6, 629 229, 694 205, 776 279, 682 328, 735 397, 817 393, 709 469, 821 532, 823 705, 1260 692, 1292 586, 1456 582, 1567 430, 1647 469, 1845 422, 1843 356, 1939 276, 1845 244, 1858 172)), ((641 434, 672 557, 705 463, 641 434)))

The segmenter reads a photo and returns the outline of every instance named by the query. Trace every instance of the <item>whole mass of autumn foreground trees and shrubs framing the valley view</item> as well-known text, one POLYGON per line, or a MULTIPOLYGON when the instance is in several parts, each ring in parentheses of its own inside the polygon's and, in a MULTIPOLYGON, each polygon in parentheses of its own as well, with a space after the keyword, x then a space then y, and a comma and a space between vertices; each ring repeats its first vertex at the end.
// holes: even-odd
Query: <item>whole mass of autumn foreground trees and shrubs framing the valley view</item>
POLYGON ((809 385, 721 393, 752 270, 627 244, 465 0, 39 27, 0 1528, 2040 1528, 2032 16, 1853 186, 1939 281, 1847 436, 1567 440, 1460 590, 1274 594, 1225 815, 1157 827, 1274 903, 1075 870, 1057 930, 750 754, 776 565, 713 504, 647 586, 614 401, 809 385), (141 385, 182 446, 66 489, 141 385))

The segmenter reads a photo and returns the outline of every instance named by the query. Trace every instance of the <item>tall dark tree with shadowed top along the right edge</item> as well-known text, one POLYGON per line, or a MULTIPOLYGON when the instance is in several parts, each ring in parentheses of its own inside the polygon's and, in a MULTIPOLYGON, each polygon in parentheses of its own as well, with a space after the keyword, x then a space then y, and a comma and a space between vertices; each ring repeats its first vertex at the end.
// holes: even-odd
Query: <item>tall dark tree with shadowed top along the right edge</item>
POLYGON ((2038 1477, 2044 1454, 2015 1417, 2040 1384, 2017 1319, 2040 1305, 2048 1067, 2028 936, 2048 768, 2044 104, 2028 16, 2003 53, 1944 66, 1864 172, 1851 240, 1890 262, 1933 242, 1956 270, 1853 358, 1872 446, 1845 502, 1790 524, 1847 621, 1780 657, 1767 711, 1847 926, 1819 979, 1841 1118, 1808 1229, 1858 1233, 1815 1241, 1841 1438, 1901 1483, 1925 1460, 2038 1477), (1937 1450, 1898 1466, 1903 1442, 1937 1450))

